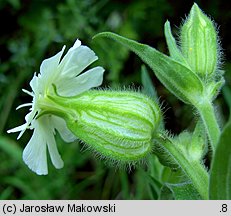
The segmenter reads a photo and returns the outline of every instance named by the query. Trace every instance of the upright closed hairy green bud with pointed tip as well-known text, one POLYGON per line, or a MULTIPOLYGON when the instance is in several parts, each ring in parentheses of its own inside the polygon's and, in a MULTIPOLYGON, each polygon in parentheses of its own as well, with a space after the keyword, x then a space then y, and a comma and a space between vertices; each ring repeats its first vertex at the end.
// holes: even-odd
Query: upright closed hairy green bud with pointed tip
POLYGON ((181 28, 181 48, 191 69, 200 77, 213 77, 218 64, 219 47, 213 22, 197 4, 181 28))

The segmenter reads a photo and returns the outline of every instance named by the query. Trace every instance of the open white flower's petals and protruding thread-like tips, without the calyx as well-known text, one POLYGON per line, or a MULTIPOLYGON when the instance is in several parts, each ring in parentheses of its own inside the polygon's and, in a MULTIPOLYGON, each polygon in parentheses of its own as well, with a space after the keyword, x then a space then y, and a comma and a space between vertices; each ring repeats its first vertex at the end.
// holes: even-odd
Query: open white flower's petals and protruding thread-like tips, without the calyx
POLYGON ((56 130, 66 142, 76 139, 62 118, 52 114, 38 116, 44 111, 40 107, 38 99, 53 94, 53 84, 59 95, 69 97, 97 87, 101 85, 103 80, 104 69, 102 67, 92 68, 79 75, 87 66, 98 59, 90 48, 82 46, 81 42, 76 40, 74 46, 61 60, 64 49, 65 46, 55 56, 42 62, 40 73, 34 74, 30 82, 32 92, 23 89, 24 92, 33 97, 32 103, 22 104, 17 108, 31 106, 30 112, 25 117, 26 123, 7 131, 8 133, 20 131, 19 139, 26 129, 34 130, 23 151, 23 160, 38 175, 48 173, 47 148, 53 165, 57 169, 63 167, 63 161, 58 153, 54 138, 56 130))

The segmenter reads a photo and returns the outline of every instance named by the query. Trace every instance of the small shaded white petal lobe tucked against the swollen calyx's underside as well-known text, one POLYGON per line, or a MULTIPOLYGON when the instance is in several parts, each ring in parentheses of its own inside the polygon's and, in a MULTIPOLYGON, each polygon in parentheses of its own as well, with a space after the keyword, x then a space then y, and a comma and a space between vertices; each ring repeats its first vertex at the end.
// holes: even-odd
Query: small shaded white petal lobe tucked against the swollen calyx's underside
POLYGON ((54 128, 57 129, 65 142, 73 142, 77 139, 76 136, 67 128, 66 122, 62 118, 52 116, 52 122, 54 128))

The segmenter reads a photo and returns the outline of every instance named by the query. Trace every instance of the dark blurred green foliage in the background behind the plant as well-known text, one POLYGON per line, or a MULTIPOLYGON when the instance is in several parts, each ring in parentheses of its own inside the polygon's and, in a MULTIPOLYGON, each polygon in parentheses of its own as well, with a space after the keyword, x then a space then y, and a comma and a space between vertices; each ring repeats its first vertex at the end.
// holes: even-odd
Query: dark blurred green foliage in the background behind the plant
MULTIPOLYGON (((29 81, 39 71, 42 60, 53 56, 64 44, 70 47, 76 38, 96 52, 99 60, 95 64, 106 69, 104 87, 139 88, 141 61, 113 41, 92 41, 92 37, 102 31, 113 31, 167 53, 164 22, 169 19, 173 27, 179 26, 192 3, 182 0, 0 1, 0 199, 159 198, 161 182, 174 182, 174 175, 154 156, 132 172, 115 171, 91 152, 84 151, 83 144, 77 141, 66 144, 57 135, 65 166, 61 170, 50 166, 48 176, 37 176, 21 158, 32 131, 26 131, 16 140, 17 135, 8 135, 6 130, 24 122, 28 110, 15 111, 15 108, 31 100, 21 89, 30 90, 29 81)), ((231 106, 230 3, 224 0, 197 3, 220 26, 227 80, 216 102, 222 123, 227 120, 231 106)), ((177 28, 174 31, 177 34, 177 28)), ((172 96, 153 75, 151 79, 166 107, 166 127, 175 133, 190 127, 191 108, 172 96)))

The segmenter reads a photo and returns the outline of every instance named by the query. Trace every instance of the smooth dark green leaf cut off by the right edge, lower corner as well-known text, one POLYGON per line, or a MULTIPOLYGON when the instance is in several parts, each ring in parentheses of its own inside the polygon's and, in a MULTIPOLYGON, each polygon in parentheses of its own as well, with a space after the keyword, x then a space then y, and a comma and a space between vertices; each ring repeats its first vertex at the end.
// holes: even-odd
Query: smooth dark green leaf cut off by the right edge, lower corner
POLYGON ((231 199, 231 120, 221 133, 212 161, 210 176, 210 199, 231 199))

